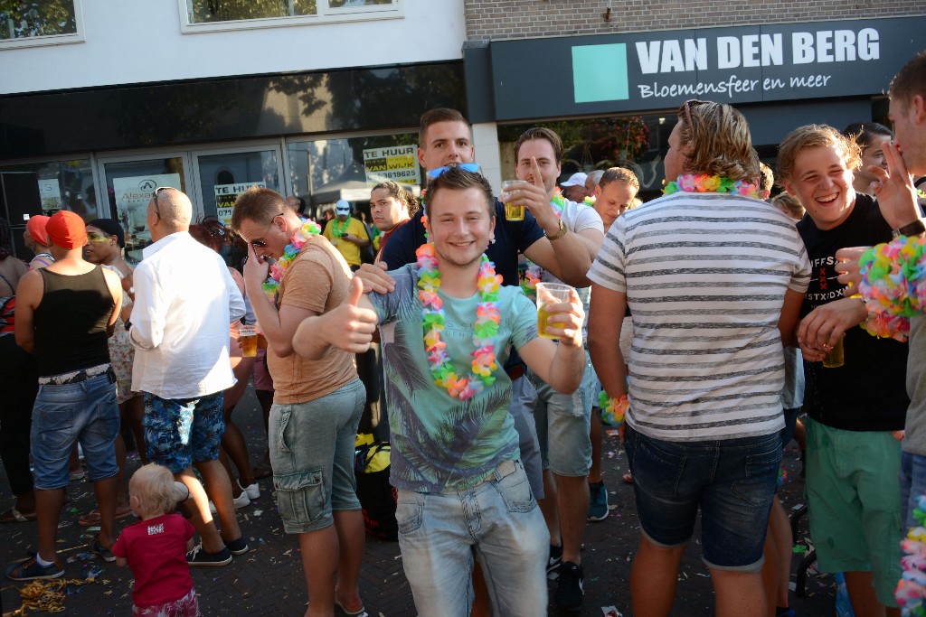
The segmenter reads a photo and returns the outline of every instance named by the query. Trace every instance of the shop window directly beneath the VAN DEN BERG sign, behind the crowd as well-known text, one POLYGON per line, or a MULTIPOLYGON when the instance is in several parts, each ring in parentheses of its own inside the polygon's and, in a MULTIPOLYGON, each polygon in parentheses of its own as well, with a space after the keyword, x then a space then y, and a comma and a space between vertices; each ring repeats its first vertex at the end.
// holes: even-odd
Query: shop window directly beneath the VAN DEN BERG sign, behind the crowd
POLYGON ((672 113, 499 125, 499 154, 505 178, 514 178, 514 144, 532 126, 554 130, 563 141, 560 182, 577 171, 589 173, 595 169, 625 167, 640 180, 644 196, 654 196, 662 190, 663 158, 669 149, 669 133, 675 126, 672 113))

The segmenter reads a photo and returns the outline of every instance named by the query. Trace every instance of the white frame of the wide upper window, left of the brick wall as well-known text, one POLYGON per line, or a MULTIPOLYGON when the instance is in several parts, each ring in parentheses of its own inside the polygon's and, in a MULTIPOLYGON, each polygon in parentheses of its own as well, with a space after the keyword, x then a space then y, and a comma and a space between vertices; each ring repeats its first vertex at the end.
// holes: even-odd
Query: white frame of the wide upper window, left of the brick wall
POLYGON ((316 15, 190 23, 187 0, 177 0, 180 14, 180 30, 182 34, 307 26, 344 21, 368 21, 371 19, 402 19, 404 17, 402 4, 403 0, 393 0, 391 5, 331 8, 328 6, 328 0, 317 0, 318 14, 316 15))

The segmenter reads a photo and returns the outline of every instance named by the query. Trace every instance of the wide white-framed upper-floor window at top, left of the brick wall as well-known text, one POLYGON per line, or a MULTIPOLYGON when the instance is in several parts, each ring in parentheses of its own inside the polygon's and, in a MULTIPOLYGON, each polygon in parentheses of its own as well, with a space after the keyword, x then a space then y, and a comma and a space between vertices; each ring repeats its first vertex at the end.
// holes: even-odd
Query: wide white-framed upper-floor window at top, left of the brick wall
POLYGON ((400 0, 178 0, 184 32, 401 17, 400 0))

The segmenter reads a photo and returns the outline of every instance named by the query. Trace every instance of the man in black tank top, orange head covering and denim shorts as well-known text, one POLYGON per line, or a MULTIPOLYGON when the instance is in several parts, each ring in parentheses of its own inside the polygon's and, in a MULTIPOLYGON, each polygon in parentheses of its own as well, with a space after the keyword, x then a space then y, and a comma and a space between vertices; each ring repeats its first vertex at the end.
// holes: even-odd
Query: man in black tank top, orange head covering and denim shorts
POLYGON ((57 578, 58 517, 69 484, 68 456, 80 441, 100 506, 100 533, 91 550, 115 561, 115 440, 119 433, 116 376, 106 339, 119 317, 119 277, 83 260, 87 233, 80 216, 62 211, 48 221, 56 261, 28 273, 17 289, 16 342, 39 364, 39 393, 32 410, 31 454, 39 550, 6 576, 17 581, 57 578))

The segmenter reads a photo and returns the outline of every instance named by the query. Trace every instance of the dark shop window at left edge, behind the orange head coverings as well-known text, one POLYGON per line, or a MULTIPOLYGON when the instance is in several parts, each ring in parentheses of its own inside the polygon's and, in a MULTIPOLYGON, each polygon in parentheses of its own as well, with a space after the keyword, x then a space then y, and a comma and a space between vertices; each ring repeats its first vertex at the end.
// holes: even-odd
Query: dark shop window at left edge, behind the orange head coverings
MULTIPOLYGON (((26 171, 34 173, 39 183, 42 211, 51 216, 58 210, 76 212, 84 221, 99 217, 94 174, 90 159, 5 165, 0 171, 26 171)), ((106 200, 103 202, 106 206, 106 200)))

